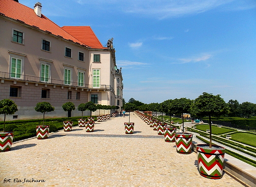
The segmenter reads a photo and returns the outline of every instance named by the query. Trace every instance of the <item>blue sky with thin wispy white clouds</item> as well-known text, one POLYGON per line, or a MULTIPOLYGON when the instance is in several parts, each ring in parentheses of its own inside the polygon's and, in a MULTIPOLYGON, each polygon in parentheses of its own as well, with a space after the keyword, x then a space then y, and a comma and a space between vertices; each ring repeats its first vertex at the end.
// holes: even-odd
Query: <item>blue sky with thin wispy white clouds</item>
POLYGON ((60 27, 91 26, 103 45, 114 38, 127 102, 207 92, 256 103, 256 0, 39 2, 60 27))

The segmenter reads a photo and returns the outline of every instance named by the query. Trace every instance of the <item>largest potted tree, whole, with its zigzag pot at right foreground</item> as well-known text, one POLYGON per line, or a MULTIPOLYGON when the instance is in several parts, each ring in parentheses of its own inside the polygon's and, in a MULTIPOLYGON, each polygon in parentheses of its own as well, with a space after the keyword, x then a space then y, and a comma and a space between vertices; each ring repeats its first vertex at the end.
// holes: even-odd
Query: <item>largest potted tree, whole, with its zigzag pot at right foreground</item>
POLYGON ((220 117, 228 112, 228 105, 221 95, 203 93, 192 103, 192 114, 198 117, 209 117, 210 144, 196 145, 198 169, 200 175, 211 179, 221 179, 223 176, 225 148, 212 145, 212 122, 211 117, 220 117), (206 159, 207 158, 207 159, 206 159), (214 170, 212 168, 215 168, 214 170))

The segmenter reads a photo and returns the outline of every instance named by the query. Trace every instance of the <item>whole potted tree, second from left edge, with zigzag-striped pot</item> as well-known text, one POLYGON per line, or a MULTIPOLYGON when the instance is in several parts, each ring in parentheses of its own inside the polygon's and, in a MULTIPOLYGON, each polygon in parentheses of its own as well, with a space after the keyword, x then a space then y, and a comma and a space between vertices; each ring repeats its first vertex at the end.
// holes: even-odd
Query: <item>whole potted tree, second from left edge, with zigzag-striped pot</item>
POLYGON ((36 138, 38 140, 47 139, 49 134, 49 125, 44 125, 44 114, 45 112, 54 111, 54 107, 49 102, 38 102, 34 108, 36 112, 43 113, 43 125, 36 126, 36 138))

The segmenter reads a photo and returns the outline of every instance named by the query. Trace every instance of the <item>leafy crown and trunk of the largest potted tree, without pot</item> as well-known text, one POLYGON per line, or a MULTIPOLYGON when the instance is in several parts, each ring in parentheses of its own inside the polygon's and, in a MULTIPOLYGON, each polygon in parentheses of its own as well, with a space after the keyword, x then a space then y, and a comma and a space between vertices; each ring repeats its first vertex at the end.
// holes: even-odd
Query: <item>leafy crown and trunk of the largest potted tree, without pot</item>
POLYGON ((209 117, 210 125, 210 145, 212 147, 212 121, 211 117, 216 116, 220 117, 223 114, 226 114, 229 111, 228 105, 225 103, 224 99, 221 98, 221 95, 213 95, 204 92, 202 95, 199 95, 192 103, 191 111, 193 115, 204 117, 209 117))

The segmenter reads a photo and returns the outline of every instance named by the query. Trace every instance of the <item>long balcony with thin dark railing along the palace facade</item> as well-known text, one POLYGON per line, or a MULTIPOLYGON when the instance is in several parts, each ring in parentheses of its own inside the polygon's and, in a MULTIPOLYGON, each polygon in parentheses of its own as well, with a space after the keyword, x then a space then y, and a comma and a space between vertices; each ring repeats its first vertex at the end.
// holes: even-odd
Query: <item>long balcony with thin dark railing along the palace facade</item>
POLYGON ((94 87, 91 84, 83 84, 83 83, 63 81, 58 79, 35 77, 35 76, 24 75, 24 74, 7 73, 2 71, 0 71, 0 79, 34 82, 34 83, 42 83, 42 84, 52 84, 52 85, 60 85, 60 86, 72 86, 72 87, 79 87, 83 89, 93 89, 93 90, 102 90, 102 89, 113 90, 110 85, 99 85, 99 87, 94 87))

